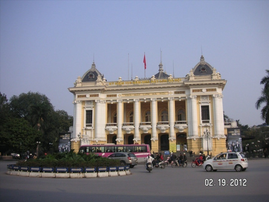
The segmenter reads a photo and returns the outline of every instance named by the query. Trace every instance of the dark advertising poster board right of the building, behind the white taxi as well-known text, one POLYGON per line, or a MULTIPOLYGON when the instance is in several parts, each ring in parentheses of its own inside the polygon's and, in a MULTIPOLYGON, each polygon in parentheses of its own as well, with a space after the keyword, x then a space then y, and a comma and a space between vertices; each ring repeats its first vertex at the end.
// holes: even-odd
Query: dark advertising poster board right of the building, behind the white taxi
POLYGON ((242 137, 239 127, 227 128, 228 150, 242 152, 242 137))

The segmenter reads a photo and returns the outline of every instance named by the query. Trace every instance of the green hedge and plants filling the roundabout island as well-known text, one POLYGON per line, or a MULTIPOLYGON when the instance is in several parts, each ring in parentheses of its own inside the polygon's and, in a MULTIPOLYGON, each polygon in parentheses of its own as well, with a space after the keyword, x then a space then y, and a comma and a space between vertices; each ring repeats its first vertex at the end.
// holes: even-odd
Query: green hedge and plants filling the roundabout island
POLYGON ((29 167, 109 167, 119 166, 120 161, 100 157, 94 154, 76 153, 74 150, 69 153, 59 153, 47 155, 40 159, 29 159, 27 161, 18 161, 16 165, 29 167))

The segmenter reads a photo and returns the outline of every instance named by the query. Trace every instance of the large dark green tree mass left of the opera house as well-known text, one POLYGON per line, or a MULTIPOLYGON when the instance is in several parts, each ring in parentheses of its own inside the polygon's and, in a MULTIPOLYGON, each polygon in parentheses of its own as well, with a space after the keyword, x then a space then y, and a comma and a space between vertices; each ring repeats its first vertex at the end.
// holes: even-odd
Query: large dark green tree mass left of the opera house
POLYGON ((13 95, 8 101, 0 92, 0 152, 31 153, 36 142, 42 152, 58 150, 59 132, 67 132, 73 117, 54 110, 48 97, 39 92, 13 95), (40 127, 38 127, 40 126, 40 127), (38 132, 38 129, 40 131, 38 132), (53 143, 51 146, 49 143, 53 143))

